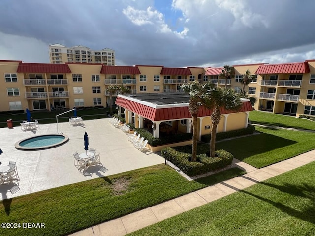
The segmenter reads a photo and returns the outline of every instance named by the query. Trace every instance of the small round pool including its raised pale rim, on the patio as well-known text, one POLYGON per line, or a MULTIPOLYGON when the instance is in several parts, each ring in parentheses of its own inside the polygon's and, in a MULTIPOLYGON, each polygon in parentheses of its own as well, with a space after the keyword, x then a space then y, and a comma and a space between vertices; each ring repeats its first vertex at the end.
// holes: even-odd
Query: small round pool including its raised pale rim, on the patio
POLYGON ((63 134, 38 135, 16 142, 15 148, 19 150, 41 150, 63 145, 67 141, 69 141, 69 137, 63 134))

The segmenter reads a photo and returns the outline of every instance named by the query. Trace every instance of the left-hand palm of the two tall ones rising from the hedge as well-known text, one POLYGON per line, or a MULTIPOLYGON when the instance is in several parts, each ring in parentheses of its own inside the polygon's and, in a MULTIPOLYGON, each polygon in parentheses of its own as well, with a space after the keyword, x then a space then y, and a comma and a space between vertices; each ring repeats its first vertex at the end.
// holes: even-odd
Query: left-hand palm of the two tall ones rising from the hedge
POLYGON ((206 83, 201 86, 198 81, 192 81, 181 85, 181 89, 189 94, 188 109, 192 118, 192 150, 191 161, 197 161, 197 126, 198 126, 198 111, 201 102, 210 96, 211 89, 215 89, 211 83, 206 83))

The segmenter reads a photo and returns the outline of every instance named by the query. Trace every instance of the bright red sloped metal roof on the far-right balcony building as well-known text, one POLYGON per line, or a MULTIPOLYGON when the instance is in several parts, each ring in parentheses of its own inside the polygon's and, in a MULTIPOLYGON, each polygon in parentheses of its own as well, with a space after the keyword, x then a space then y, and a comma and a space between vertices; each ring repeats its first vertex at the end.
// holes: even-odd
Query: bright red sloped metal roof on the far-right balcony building
POLYGON ((307 62, 261 65, 255 74, 310 73, 307 62))

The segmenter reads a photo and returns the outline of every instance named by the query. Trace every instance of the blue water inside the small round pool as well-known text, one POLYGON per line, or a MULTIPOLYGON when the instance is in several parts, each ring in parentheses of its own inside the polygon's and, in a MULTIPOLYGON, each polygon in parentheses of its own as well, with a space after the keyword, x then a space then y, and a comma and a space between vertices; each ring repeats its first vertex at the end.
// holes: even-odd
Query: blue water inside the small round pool
POLYGON ((54 144, 58 144, 65 139, 64 136, 61 135, 42 135, 39 137, 33 137, 31 139, 27 139, 19 143, 20 146, 25 148, 40 148, 45 146, 50 146, 54 144))

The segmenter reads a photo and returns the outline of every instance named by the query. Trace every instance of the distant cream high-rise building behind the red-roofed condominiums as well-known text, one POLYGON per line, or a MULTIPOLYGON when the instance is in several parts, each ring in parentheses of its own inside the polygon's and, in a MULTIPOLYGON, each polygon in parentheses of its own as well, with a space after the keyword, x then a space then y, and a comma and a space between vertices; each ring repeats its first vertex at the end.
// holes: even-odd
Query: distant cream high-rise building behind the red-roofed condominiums
POLYGON ((49 46, 49 59, 52 64, 77 62, 115 65, 115 51, 110 48, 104 48, 98 51, 91 50, 90 48, 82 45, 68 48, 56 43, 49 46))

